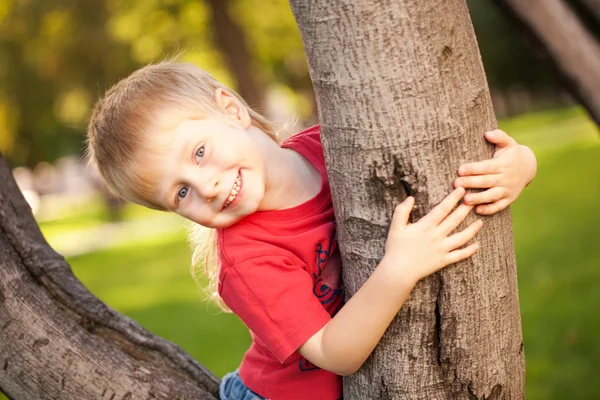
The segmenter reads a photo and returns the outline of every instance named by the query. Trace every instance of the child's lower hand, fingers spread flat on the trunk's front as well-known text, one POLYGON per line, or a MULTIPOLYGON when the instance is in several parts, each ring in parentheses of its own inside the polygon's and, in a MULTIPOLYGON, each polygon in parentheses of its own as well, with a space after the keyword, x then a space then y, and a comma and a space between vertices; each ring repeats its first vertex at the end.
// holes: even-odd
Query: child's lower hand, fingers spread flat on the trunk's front
POLYGON ((421 278, 464 260, 477 251, 477 244, 459 248, 479 232, 483 226, 481 220, 450 235, 473 209, 471 205, 460 204, 452 211, 464 194, 465 189, 455 189, 414 224, 408 223, 414 205, 413 197, 408 197, 396 207, 385 244, 384 259, 410 283, 416 284, 421 278))

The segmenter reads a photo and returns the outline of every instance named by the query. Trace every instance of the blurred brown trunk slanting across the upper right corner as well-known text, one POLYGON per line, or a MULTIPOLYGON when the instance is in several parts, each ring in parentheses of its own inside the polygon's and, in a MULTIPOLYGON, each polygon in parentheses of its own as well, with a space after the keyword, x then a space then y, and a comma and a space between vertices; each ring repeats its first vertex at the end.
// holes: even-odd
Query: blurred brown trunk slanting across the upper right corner
MULTIPOLYGON (((562 0, 494 0, 600 126, 600 43, 562 0)), ((590 2, 593 3, 593 2, 590 2)))

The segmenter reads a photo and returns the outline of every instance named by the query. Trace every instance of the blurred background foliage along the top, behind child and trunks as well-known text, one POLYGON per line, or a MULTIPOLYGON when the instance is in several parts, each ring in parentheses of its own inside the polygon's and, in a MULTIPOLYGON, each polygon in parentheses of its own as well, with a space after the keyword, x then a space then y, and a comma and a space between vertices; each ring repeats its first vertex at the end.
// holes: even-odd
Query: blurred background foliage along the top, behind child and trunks
MULTIPOLYGON (((243 32, 258 85, 279 87, 301 118, 315 111, 286 0, 222 0, 243 32)), ((490 1, 469 0, 492 87, 555 87, 490 1)), ((183 53, 236 87, 207 0, 0 2, 0 150, 33 167, 80 154, 96 99, 136 68, 183 53)))

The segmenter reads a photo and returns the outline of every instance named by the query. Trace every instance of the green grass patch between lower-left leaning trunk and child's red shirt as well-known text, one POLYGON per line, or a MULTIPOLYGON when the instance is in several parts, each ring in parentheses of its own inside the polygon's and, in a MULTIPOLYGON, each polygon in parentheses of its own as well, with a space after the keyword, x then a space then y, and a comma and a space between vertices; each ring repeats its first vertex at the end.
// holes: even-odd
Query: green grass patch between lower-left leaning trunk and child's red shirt
POLYGON ((233 314, 205 301, 189 272, 183 233, 69 260, 100 299, 150 331, 179 344, 218 376, 239 364, 250 345, 233 314))

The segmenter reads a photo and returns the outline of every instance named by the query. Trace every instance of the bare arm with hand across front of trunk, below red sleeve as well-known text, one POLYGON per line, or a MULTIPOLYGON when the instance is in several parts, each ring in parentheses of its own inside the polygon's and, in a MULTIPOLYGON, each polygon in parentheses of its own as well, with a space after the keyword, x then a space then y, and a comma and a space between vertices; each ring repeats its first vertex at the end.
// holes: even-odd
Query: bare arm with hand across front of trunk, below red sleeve
POLYGON ((450 235, 473 209, 461 204, 452 211, 463 195, 463 188, 454 190, 414 224, 408 223, 414 199, 409 197, 402 202, 392 218, 383 260, 335 317, 300 347, 300 354, 339 375, 356 372, 415 284, 477 251, 477 244, 460 247, 481 229, 481 220, 450 235))

